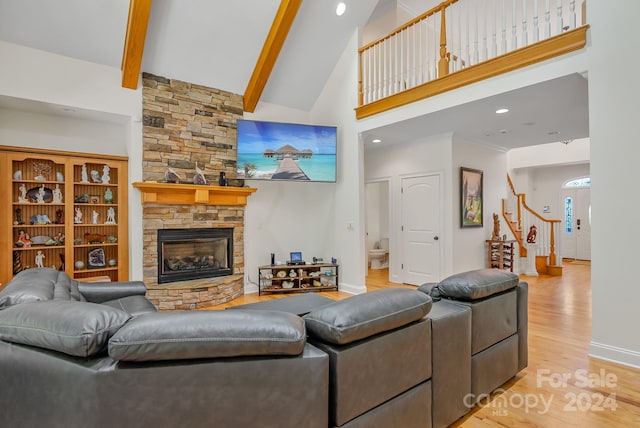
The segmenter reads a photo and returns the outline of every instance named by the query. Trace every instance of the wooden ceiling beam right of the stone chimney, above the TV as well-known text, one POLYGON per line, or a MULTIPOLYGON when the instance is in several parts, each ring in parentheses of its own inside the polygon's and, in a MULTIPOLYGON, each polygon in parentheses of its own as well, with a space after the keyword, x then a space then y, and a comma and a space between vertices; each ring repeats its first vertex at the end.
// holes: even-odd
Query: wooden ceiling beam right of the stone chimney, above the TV
POLYGON ((255 111, 301 3, 302 0, 280 0, 278 12, 262 46, 262 52, 253 69, 247 89, 244 91, 244 111, 249 113, 255 111))

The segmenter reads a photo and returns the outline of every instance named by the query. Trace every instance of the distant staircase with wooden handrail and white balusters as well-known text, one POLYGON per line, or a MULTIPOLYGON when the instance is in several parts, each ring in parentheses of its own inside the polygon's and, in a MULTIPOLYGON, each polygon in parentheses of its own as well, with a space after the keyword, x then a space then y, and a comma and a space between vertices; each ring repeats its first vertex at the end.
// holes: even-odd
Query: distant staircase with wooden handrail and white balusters
POLYGON ((517 193, 511 177, 507 174, 511 190, 509 197, 502 200, 502 217, 518 242, 520 258, 526 258, 529 251, 535 251, 536 271, 539 274, 562 276, 562 257, 558 257, 556 237, 560 236, 561 220, 549 220, 527 205, 524 193, 517 193), (535 226, 535 243, 527 242, 527 236, 535 226))

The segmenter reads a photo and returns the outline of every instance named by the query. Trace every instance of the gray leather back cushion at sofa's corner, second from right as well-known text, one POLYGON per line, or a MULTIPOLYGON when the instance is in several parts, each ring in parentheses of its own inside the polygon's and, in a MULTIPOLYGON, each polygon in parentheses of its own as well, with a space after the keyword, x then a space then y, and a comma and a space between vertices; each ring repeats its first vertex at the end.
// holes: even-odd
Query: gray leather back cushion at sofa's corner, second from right
POLYGON ((344 345, 419 320, 430 309, 431 298, 426 294, 389 288, 323 306, 304 320, 310 334, 344 345))

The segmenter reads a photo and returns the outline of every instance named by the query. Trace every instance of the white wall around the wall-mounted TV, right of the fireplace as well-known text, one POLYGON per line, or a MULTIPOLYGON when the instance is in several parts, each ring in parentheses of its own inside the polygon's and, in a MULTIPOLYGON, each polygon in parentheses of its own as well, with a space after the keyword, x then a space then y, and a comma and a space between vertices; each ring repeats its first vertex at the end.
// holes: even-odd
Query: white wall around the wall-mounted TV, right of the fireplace
MULTIPOLYGON (((290 251, 303 258, 336 257, 340 264, 340 289, 355 293, 364 285, 364 184, 361 143, 355 131, 353 106, 357 102, 358 34, 354 34, 311 112, 259 103, 246 118, 338 127, 336 183, 259 182, 245 213, 245 271, 252 283, 257 267, 269 254, 286 260, 290 251)), ((255 290, 248 284, 247 291, 255 290)))

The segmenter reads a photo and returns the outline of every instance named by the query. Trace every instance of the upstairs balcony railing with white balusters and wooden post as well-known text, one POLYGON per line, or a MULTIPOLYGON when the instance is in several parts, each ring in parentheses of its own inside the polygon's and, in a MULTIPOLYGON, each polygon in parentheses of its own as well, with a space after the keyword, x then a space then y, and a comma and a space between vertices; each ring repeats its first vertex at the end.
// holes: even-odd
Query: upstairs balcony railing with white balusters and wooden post
POLYGON ((585 2, 443 1, 358 50, 358 105, 570 32, 585 24, 585 2))

